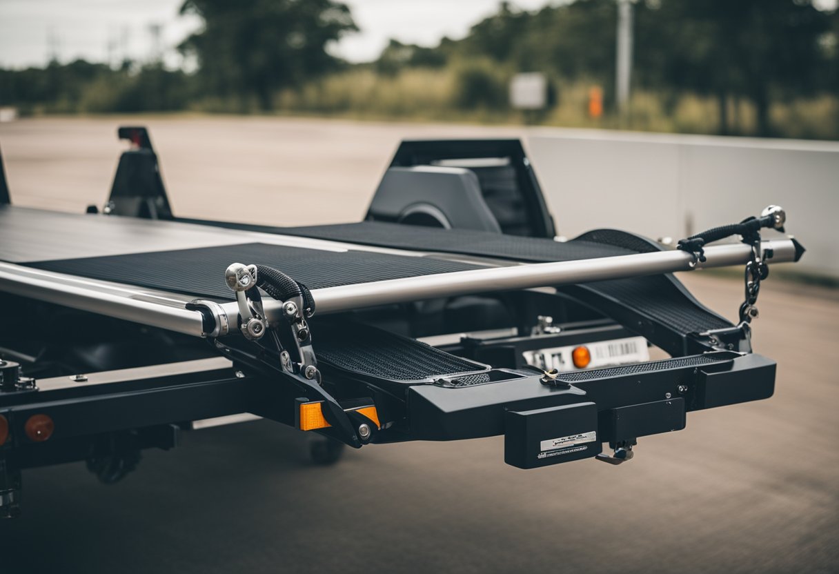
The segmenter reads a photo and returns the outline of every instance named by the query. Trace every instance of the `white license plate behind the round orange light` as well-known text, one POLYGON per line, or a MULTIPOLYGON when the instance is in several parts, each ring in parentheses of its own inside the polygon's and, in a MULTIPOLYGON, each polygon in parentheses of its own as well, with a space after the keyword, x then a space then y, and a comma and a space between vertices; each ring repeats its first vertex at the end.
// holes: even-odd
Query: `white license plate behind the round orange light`
POLYGON ((545 371, 555 368, 558 371, 579 371, 574 366, 571 353, 576 347, 586 347, 591 355, 591 362, 585 368, 608 367, 627 363, 644 363, 649 361, 649 349, 644 337, 627 337, 598 341, 585 345, 570 345, 568 347, 553 347, 550 349, 536 349, 525 351, 524 362, 545 371))

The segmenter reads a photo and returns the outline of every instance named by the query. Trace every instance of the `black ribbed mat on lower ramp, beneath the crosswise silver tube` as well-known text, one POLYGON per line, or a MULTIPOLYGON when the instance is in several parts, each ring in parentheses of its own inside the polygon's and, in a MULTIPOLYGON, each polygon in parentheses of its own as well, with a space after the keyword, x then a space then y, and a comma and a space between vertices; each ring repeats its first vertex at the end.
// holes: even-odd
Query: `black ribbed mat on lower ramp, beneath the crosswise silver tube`
POLYGON ((390 381, 416 381, 487 370, 480 363, 455 357, 424 342, 359 324, 318 328, 312 346, 321 363, 390 381))

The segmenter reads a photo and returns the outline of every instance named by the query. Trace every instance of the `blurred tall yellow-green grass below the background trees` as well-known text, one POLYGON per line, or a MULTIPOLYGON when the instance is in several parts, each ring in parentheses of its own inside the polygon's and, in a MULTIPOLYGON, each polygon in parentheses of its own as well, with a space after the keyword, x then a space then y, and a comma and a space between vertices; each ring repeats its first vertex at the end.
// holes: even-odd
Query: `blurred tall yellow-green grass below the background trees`
MULTIPOLYGON (((478 96, 485 86, 506 94, 509 74, 487 70, 486 66, 452 65, 441 69, 409 68, 395 75, 378 74, 372 68, 356 68, 313 81, 294 90, 281 91, 275 100, 279 113, 301 113, 329 117, 375 120, 459 121, 470 123, 539 123, 570 128, 610 128, 665 133, 718 133, 716 98, 695 94, 664 94, 635 90, 628 113, 607 112, 588 116, 588 95, 593 81, 555 81, 555 106, 544 112, 523 113, 505 102, 462 103, 468 81, 482 84, 472 89, 478 96), (465 70, 470 72, 468 75, 465 70), (476 71, 477 70, 477 71, 476 71), (482 78, 480 75, 485 76, 482 78)), ((476 98, 479 100, 480 98, 476 98)), ((731 133, 756 134, 756 113, 751 102, 730 98, 728 117, 731 133)), ((223 102, 193 106, 202 111, 241 111, 223 102)), ((839 97, 820 95, 775 102, 770 109, 775 132, 789 138, 839 139, 839 97)))

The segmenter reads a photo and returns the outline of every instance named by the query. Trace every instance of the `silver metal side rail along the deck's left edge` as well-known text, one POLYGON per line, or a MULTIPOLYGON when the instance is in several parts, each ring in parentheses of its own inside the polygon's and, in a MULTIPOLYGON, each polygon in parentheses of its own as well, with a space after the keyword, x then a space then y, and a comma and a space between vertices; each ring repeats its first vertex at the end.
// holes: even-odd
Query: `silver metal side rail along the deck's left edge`
POLYGON ((204 333, 201 313, 185 309, 184 301, 126 285, 0 263, 0 290, 195 337, 204 333))

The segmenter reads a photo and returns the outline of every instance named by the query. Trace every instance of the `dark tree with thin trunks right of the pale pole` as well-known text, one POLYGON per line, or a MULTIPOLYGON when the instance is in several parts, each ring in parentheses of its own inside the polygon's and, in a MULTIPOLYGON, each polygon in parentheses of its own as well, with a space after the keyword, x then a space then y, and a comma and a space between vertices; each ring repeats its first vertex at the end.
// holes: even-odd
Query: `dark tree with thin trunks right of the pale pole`
POLYGON ((810 0, 659 0, 638 18, 636 64, 675 89, 717 96, 728 132, 729 96, 748 97, 758 134, 772 134, 773 97, 801 95, 822 82, 821 39, 831 16, 810 0))

